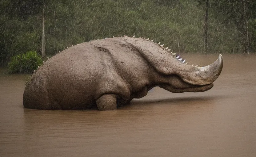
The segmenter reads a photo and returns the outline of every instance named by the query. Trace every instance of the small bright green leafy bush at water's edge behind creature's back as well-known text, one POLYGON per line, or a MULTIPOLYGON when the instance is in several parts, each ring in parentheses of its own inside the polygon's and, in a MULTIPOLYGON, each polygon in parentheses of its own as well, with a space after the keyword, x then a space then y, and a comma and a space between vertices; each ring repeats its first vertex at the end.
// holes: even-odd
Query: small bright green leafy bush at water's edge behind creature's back
POLYGON ((9 62, 10 73, 33 73, 43 63, 35 51, 13 56, 9 62))

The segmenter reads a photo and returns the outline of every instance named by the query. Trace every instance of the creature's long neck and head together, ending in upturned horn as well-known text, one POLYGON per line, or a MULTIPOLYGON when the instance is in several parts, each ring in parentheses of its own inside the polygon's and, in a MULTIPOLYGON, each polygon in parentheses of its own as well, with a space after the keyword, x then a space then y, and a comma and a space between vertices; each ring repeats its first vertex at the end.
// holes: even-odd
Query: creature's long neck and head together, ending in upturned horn
MULTIPOLYGON (((214 63, 206 67, 194 67, 187 65, 184 59, 176 53, 170 52, 171 49, 165 48, 161 42, 157 44, 149 38, 134 38, 134 36, 126 36, 122 39, 122 45, 129 45, 131 51, 137 52, 148 64, 154 67, 154 71, 157 72, 154 79, 156 86, 170 92, 203 92, 209 90, 222 71, 222 55, 219 55, 214 63)), ((116 40, 115 42, 118 43, 119 41, 116 40)))

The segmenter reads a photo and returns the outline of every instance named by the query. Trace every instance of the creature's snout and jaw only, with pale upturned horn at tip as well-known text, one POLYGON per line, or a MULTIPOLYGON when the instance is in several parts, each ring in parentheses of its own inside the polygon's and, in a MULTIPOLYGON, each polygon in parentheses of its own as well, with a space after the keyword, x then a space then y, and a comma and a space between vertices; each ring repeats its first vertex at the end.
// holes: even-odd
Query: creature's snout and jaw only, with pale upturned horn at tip
POLYGON ((168 83, 161 84, 160 87, 173 93, 203 92, 213 87, 222 67, 222 55, 206 67, 194 67, 180 62, 172 74, 167 76, 168 83))

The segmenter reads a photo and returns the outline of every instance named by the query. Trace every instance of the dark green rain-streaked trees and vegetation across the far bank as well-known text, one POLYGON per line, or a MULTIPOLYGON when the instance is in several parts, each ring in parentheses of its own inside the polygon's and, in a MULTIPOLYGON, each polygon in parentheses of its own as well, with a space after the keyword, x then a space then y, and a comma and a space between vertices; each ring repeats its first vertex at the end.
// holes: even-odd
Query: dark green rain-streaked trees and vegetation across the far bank
POLYGON ((174 52, 256 51, 255 0, 1 0, 0 8, 2 66, 42 53, 43 17, 46 56, 118 35, 146 36, 174 52))

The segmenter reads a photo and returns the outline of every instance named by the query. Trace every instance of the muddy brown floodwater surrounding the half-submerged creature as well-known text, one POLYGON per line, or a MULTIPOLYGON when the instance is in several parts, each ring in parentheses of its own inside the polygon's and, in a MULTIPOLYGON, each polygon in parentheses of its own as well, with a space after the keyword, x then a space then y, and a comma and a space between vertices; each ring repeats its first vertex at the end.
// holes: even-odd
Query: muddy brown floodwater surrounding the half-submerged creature
POLYGON ((0 69, 0 156, 256 156, 256 56, 223 59, 209 91, 156 87, 116 111, 25 109, 27 75, 0 69))

